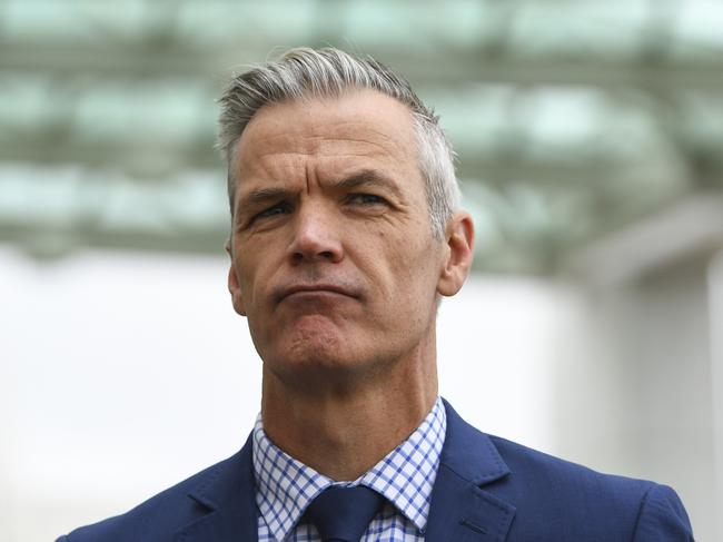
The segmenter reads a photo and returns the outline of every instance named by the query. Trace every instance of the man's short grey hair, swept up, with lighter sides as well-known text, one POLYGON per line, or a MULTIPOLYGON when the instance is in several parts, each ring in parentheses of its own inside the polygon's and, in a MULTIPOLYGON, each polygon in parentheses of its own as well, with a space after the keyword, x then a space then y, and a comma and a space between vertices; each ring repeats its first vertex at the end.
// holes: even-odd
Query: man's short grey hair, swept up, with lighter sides
POLYGON ((358 58, 335 48, 290 49, 278 61, 252 68, 231 79, 219 102, 217 146, 228 167, 228 197, 234 214, 236 179, 234 149, 254 115, 265 105, 306 97, 340 97, 350 89, 373 89, 406 105, 412 112, 419 170, 432 231, 442 239, 447 220, 459 206, 454 151, 439 118, 425 106, 409 82, 373 58, 358 58))

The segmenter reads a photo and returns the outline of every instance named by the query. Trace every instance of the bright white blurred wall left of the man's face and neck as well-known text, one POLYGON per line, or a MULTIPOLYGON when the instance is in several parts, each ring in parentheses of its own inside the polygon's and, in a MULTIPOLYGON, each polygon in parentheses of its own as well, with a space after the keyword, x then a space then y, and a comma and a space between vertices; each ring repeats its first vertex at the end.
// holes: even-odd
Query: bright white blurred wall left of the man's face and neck
POLYGON ((0 254, 10 541, 53 540, 240 447, 260 371, 221 258, 0 254))

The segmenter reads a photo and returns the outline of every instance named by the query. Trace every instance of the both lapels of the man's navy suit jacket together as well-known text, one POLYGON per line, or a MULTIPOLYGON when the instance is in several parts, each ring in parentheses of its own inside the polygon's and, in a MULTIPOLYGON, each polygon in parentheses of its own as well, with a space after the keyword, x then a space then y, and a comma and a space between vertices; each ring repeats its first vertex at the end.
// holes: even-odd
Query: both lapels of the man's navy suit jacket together
MULTIPOLYGON (((432 490, 427 542, 502 542, 515 507, 484 490, 509 474, 492 440, 444 402, 447 432, 432 490)), ((257 542, 258 507, 251 441, 218 464, 189 496, 205 513, 176 534, 175 542, 257 542)))

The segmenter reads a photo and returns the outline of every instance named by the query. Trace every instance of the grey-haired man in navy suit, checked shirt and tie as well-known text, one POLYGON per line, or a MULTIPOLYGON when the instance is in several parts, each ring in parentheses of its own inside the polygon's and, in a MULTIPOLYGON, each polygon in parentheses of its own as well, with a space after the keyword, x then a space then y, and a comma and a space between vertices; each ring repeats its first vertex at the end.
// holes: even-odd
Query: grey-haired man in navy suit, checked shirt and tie
POLYGON ((221 105, 228 286, 264 361, 261 414, 237 455, 60 540, 692 540, 670 487, 485 435, 438 398, 436 311, 473 225, 406 81, 296 49, 221 105))

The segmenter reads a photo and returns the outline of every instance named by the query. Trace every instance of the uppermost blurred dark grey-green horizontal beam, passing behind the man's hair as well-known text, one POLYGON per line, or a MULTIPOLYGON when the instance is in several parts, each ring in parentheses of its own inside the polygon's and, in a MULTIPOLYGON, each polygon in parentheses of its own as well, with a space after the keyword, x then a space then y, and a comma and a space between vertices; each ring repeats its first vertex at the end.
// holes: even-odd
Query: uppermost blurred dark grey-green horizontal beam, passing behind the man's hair
MULTIPOLYGON (((370 51, 374 53, 374 51, 370 51)), ((0 72, 44 73, 60 77, 92 75, 112 79, 174 79, 216 76, 219 80, 245 62, 266 58, 258 45, 228 45, 227 49, 191 49, 184 43, 168 48, 111 43, 3 43, 0 72), (235 55, 234 50, 242 50, 235 55)), ((635 57, 614 59, 601 56, 572 58, 523 58, 508 52, 485 56, 468 49, 442 49, 434 57, 413 56, 389 49, 379 58, 405 73, 416 86, 455 87, 471 82, 515 86, 586 86, 598 88, 668 88, 673 90, 723 90, 721 56, 676 62, 656 62, 635 57), (454 61, 449 61, 454 59, 454 61), (430 69, 434 67, 434 69, 430 69)))

